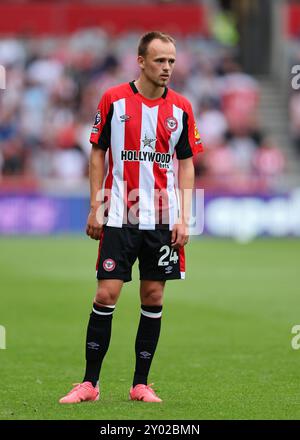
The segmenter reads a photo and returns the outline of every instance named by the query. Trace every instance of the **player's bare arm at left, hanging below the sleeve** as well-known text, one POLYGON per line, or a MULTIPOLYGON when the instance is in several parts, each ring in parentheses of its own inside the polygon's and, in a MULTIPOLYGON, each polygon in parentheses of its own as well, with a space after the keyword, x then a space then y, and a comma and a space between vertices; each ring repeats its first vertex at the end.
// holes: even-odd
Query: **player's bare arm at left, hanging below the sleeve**
POLYGON ((86 233, 94 240, 99 240, 103 224, 97 219, 97 210, 101 205, 99 191, 104 180, 105 151, 93 144, 89 160, 90 212, 87 219, 86 233), (98 196, 98 197, 97 197, 98 196))

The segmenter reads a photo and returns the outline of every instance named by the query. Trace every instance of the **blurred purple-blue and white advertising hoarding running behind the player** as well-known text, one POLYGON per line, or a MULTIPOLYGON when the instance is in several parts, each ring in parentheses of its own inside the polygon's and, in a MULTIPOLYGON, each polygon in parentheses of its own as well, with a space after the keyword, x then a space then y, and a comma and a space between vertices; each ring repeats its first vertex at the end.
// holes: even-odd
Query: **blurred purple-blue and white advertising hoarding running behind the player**
MULTIPOLYGON (((250 240, 300 237, 300 189, 288 194, 212 195, 205 192, 204 234, 250 240)), ((202 216, 198 204, 196 216, 202 216)), ((0 195, 0 235, 84 234, 88 197, 0 195)))

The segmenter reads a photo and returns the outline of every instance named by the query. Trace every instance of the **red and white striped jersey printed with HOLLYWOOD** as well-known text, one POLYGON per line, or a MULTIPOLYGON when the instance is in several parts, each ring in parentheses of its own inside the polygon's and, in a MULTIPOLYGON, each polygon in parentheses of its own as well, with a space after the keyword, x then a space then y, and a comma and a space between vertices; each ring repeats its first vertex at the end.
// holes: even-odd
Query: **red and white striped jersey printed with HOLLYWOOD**
POLYGON ((105 223, 171 230, 179 210, 174 154, 202 151, 189 101, 168 88, 147 99, 134 82, 113 87, 100 100, 90 142, 109 151, 105 223))

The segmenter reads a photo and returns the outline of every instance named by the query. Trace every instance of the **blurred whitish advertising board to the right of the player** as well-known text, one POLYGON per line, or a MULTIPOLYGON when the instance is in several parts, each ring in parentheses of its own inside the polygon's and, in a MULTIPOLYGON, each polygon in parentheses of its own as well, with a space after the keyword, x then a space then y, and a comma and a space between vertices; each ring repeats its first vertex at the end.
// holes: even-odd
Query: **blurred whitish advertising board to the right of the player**
POLYGON ((265 197, 207 197, 204 224, 206 234, 241 241, 259 236, 300 236, 300 189, 265 197))

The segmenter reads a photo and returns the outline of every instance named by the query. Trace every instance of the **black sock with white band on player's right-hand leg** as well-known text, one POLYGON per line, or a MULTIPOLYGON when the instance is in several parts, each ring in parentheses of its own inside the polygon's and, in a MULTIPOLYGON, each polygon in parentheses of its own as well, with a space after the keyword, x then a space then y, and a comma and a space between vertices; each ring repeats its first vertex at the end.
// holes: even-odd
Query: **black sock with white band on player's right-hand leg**
POLYGON ((151 362, 157 346, 162 306, 141 306, 141 318, 135 341, 136 364, 133 386, 147 385, 151 362))

